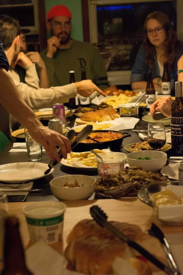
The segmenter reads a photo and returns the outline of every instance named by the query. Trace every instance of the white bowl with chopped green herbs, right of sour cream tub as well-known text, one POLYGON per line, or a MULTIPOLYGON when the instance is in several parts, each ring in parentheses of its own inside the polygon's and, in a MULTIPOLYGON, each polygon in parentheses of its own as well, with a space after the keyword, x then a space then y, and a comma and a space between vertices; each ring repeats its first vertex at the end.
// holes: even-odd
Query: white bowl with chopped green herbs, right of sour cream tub
POLYGON ((141 166, 151 172, 157 172, 163 168, 167 161, 167 154, 160 151, 136 151, 127 154, 127 163, 130 166, 141 166), (150 157, 150 160, 137 160, 137 158, 150 157))

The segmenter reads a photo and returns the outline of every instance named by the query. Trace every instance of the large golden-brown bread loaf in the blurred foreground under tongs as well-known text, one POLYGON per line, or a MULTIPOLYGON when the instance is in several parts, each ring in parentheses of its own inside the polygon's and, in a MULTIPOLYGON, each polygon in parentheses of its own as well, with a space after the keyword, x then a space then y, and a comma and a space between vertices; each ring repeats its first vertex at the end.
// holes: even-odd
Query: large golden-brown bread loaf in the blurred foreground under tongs
MULTIPOLYGON (((159 240, 143 232, 139 226, 126 222, 111 224, 161 261, 164 260, 159 240)), ((151 275, 155 269, 137 251, 91 219, 81 220, 74 226, 67 237, 67 244, 66 260, 74 270, 84 274, 112 274, 116 258, 127 259, 139 275, 151 275)))

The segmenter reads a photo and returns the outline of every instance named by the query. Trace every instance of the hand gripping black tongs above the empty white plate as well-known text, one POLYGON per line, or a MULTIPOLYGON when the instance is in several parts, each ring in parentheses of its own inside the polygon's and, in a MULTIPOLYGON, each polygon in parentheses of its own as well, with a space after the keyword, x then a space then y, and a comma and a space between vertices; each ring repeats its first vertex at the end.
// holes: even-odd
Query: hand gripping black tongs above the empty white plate
POLYGON ((54 158, 58 162, 61 160, 56 146, 60 147, 64 159, 67 158, 67 153, 71 152, 69 139, 58 132, 50 130, 44 126, 39 126, 37 129, 29 128, 28 130, 30 136, 44 147, 51 160, 54 160, 54 158))

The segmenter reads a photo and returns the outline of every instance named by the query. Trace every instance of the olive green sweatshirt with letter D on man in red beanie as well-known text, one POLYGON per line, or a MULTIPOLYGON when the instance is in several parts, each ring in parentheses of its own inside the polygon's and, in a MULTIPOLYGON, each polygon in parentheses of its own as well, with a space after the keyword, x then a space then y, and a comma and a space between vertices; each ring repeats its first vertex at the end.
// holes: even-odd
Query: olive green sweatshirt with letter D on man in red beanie
POLYGON ((69 71, 75 71, 76 82, 81 81, 81 71, 86 71, 87 79, 91 79, 100 89, 108 87, 107 74, 98 49, 87 42, 73 40, 67 50, 57 50, 53 58, 46 57, 47 49, 41 52, 45 62, 50 86, 69 84, 69 71))

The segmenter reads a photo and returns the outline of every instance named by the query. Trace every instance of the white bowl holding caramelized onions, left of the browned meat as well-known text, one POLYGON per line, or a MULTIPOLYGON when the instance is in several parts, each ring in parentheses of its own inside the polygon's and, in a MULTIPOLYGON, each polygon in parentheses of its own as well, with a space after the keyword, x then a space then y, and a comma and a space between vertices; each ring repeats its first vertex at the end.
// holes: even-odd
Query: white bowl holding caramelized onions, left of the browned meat
POLYGON ((50 182, 53 195, 58 200, 88 200, 93 194, 96 179, 85 175, 66 175, 54 178, 50 182), (74 184, 78 182, 80 187, 64 187, 65 183, 74 184))

